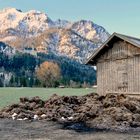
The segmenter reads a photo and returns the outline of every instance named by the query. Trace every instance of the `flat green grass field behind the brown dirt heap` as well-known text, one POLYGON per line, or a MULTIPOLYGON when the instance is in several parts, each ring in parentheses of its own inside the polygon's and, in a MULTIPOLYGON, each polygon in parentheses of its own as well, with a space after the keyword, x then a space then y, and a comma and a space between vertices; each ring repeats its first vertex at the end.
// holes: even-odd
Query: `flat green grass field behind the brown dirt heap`
POLYGON ((20 97, 39 96, 48 99, 54 93, 58 95, 85 95, 95 92, 89 88, 0 88, 0 108, 19 101, 20 97))

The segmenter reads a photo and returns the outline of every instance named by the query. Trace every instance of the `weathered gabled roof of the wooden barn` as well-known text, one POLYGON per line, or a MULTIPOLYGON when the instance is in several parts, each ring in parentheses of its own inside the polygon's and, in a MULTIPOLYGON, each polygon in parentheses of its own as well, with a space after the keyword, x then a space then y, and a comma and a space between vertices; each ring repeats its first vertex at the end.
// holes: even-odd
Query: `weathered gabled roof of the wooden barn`
POLYGON ((135 37, 131 37, 131 36, 127 36, 127 35, 122 35, 122 34, 118 34, 118 33, 113 33, 104 43, 103 45, 101 45, 101 47, 99 47, 86 61, 86 64, 91 64, 93 62, 93 60, 95 59, 95 57, 105 48, 108 47, 108 43, 114 38, 114 37, 118 37, 138 48, 140 48, 140 39, 135 38, 135 37))

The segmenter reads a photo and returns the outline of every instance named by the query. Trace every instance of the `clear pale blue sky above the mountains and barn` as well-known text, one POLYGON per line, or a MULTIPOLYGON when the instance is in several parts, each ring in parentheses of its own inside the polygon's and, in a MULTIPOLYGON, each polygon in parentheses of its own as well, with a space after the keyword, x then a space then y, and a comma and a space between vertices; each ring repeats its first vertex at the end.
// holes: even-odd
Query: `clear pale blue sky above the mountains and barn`
POLYGON ((52 20, 91 20, 110 34, 140 38, 140 0, 0 0, 0 10, 6 7, 42 11, 52 20))

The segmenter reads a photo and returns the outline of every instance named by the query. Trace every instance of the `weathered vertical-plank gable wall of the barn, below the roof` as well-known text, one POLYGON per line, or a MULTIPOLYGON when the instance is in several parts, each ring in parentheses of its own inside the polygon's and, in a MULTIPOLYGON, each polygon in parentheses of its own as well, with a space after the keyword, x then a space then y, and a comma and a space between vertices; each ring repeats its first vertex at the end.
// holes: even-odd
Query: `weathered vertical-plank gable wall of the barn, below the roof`
POLYGON ((97 63, 97 92, 140 94, 140 49, 119 41, 97 63))

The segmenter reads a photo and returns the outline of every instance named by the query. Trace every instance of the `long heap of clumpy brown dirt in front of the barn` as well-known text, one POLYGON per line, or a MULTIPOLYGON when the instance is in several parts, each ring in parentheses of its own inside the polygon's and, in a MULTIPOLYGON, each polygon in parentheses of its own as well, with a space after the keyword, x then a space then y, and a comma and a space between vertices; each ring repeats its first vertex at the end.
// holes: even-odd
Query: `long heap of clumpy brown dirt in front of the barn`
POLYGON ((85 123, 90 127, 129 129, 140 127, 140 99, 124 94, 20 98, 0 111, 0 118, 85 123))

